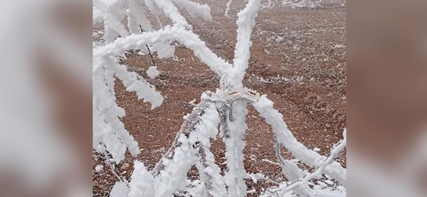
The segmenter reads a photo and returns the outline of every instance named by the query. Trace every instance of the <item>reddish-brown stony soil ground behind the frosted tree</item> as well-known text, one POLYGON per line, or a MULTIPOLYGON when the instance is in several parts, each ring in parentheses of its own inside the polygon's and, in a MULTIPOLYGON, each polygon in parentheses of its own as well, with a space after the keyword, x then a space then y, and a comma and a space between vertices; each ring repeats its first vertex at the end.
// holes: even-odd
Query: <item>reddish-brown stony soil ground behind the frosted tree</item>
MULTIPOLYGON (((193 32, 199 34, 214 53, 232 62, 237 12, 246 2, 233 2, 229 18, 224 17, 225 1, 200 2, 211 6, 212 22, 191 19, 185 11, 182 13, 189 19, 193 32)), ((168 19, 161 19, 163 24, 170 24, 168 19)), ((275 108, 283 114, 289 129, 301 143, 308 148, 320 148, 323 155, 328 155, 332 145, 342 138, 346 126, 345 20, 345 7, 342 6, 261 9, 253 30, 251 59, 244 81, 246 87, 266 94, 274 101, 275 108)), ((158 26, 156 20, 151 21, 153 26, 158 26)), ((102 28, 95 27, 94 32, 97 31, 102 31, 102 28)), ((150 110, 149 103, 138 100, 134 93, 126 92, 121 83, 116 87, 117 102, 126 110, 123 118, 125 127, 143 149, 135 158, 128 155, 125 163, 132 165, 133 161, 138 160, 152 169, 171 146, 183 123, 182 117, 191 112, 192 107, 187 102, 193 99, 200 101, 203 92, 214 91, 218 86, 218 77, 191 50, 178 46, 175 56, 159 60, 154 54, 160 75, 148 81, 165 97, 160 107, 150 110)), ((153 66, 149 56, 130 52, 126 57, 122 60, 123 64, 147 77, 146 70, 153 66)), ((249 127, 244 151, 247 172, 261 172, 273 180, 283 180, 280 167, 261 161, 276 161, 271 128, 253 107, 249 107, 246 122, 249 127)), ((225 169, 221 139, 213 141, 212 152, 217 164, 225 169)), ((343 166, 346 166, 345 154, 339 161, 343 166)), ((292 158, 285 148, 283 155, 292 158)), ((104 159, 98 156, 94 153, 93 166, 102 164, 105 172, 94 172, 93 180, 99 186, 93 187, 93 195, 108 197, 117 178, 103 162, 104 159)), ((126 170, 120 170, 121 164, 117 166, 117 171, 130 177, 132 166, 126 170)), ((188 173, 190 178, 197 175, 195 168, 188 173)), ((247 180, 247 185, 248 190, 256 189, 256 193, 248 197, 256 197, 269 183, 260 181, 254 184, 247 180)))

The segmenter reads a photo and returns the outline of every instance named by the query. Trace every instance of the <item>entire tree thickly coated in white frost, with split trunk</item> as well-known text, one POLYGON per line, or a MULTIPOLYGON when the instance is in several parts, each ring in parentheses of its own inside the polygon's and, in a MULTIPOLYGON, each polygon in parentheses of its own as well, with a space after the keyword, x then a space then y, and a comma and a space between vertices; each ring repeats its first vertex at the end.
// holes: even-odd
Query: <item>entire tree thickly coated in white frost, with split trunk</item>
MULTIPOLYGON (((147 50, 154 47, 160 58, 171 57, 174 52, 171 41, 177 41, 191 49, 194 55, 210 67, 220 78, 215 92, 207 91, 201 95, 191 114, 178 131, 171 148, 148 171, 141 162, 134 163, 131 181, 118 182, 111 191, 112 197, 171 197, 177 191, 186 190, 192 196, 203 197, 245 197, 247 188, 245 178, 253 180, 265 178, 262 174, 247 173, 243 165, 244 134, 247 130, 247 104, 252 104, 259 114, 272 127, 275 136, 275 152, 288 182, 276 183, 263 196, 345 196, 345 189, 331 187, 312 187, 312 179, 322 174, 346 185, 346 169, 334 161, 346 144, 344 139, 331 151, 329 157, 319 155, 298 142, 289 131, 283 116, 273 107, 266 95, 243 86, 246 69, 249 66, 252 28, 261 0, 248 0, 246 7, 238 13, 237 43, 233 64, 215 55, 192 26, 180 14, 178 8, 185 9, 193 17, 210 21, 210 7, 189 0, 94 0, 93 22, 103 22, 104 43, 93 45, 93 149, 109 152, 119 163, 128 150, 132 155, 139 154, 137 142, 126 131, 120 117, 124 109, 116 103, 114 76, 122 81, 127 91, 135 91, 139 99, 151 103, 154 109, 163 102, 162 95, 142 76, 129 72, 127 66, 120 65, 117 57, 128 50, 147 50), (172 25, 154 30, 141 6, 145 4, 153 14, 165 14, 172 25), (127 17, 128 24, 122 24, 127 17), (127 30, 128 29, 128 30, 127 30), (120 37, 118 37, 120 35, 120 37), (222 137, 227 159, 225 175, 214 163, 210 151, 210 139, 219 133, 222 137), (281 156, 280 148, 285 146, 295 158, 311 166, 314 172, 301 170, 294 161, 281 156), (186 181, 187 171, 196 165, 200 180, 186 181)), ((227 12, 231 0, 227 3, 227 12)), ((227 13, 226 13, 227 14, 227 13)), ((150 77, 158 75, 155 67, 148 70, 150 77), (157 74, 156 74, 157 73, 157 74)))

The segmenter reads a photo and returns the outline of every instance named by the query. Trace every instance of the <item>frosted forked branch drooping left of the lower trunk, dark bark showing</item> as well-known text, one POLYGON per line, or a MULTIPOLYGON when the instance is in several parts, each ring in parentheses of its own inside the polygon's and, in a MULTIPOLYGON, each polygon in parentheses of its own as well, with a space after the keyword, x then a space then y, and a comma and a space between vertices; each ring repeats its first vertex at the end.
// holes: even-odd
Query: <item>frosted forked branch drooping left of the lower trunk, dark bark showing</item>
POLYGON ((226 196, 219 167, 209 150, 210 138, 216 137, 218 123, 218 112, 210 100, 202 100, 186 117, 171 148, 151 172, 156 179, 157 195, 170 197, 176 190, 183 189, 187 171, 196 164, 205 185, 204 197, 226 196))

